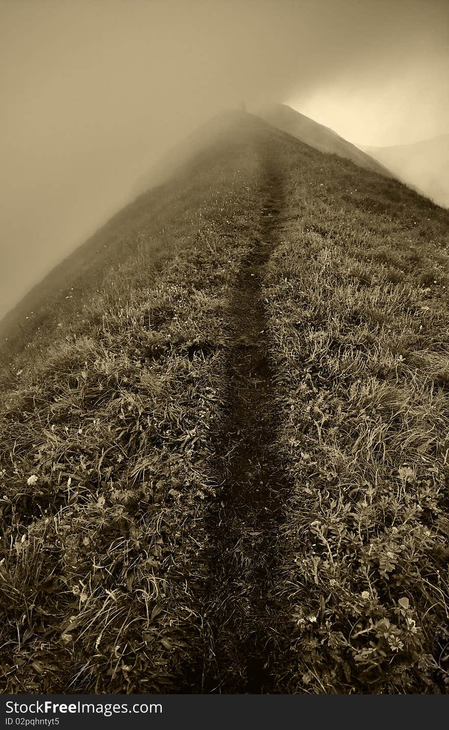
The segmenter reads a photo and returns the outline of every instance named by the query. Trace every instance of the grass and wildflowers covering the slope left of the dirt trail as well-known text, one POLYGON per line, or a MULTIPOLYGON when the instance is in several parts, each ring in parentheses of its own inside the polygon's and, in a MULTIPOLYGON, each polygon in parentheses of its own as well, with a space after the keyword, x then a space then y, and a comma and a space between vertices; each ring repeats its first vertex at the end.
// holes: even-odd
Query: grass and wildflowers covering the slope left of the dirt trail
POLYGON ((169 691, 198 639, 223 308, 257 210, 250 149, 225 152, 165 221, 161 272, 148 239, 4 396, 9 692, 169 691))

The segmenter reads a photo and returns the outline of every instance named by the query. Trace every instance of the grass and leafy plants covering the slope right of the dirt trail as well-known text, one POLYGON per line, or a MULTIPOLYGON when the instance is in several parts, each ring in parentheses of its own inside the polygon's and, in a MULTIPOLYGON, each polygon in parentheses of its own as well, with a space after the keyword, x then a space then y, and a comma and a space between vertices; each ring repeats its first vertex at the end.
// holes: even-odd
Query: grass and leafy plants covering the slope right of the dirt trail
POLYGON ((290 692, 444 692, 449 214, 336 159, 299 175, 284 147, 280 164, 265 283, 294 485, 280 677, 290 692))

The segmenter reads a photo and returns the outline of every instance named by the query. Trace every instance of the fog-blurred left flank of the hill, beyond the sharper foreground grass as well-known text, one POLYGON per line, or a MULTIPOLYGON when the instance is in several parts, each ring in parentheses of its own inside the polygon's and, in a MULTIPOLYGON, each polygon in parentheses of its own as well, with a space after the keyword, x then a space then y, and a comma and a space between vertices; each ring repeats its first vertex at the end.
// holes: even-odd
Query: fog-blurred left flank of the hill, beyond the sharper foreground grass
POLYGON ((175 177, 118 212, 1 320, 3 389, 15 383, 17 369, 29 369, 36 361, 39 372, 53 342, 89 332, 101 321, 106 293, 112 301, 120 296, 115 280, 126 261, 132 260, 136 272, 130 285, 147 283, 149 273, 153 275, 167 255, 191 243, 205 217, 224 219, 225 207, 235 202, 231 193, 223 193, 230 164, 226 156, 235 163, 233 174, 238 174, 236 155, 248 143, 248 130, 236 130, 229 137, 223 134, 213 147, 185 163, 175 177))

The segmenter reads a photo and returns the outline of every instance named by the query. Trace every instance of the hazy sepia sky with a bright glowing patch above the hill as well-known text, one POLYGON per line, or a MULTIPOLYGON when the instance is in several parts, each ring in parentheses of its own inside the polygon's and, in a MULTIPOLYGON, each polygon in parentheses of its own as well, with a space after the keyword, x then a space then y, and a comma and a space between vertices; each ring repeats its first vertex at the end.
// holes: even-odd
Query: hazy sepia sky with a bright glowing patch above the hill
POLYGON ((220 108, 448 132, 448 49, 449 0, 0 0, 0 316, 220 108))

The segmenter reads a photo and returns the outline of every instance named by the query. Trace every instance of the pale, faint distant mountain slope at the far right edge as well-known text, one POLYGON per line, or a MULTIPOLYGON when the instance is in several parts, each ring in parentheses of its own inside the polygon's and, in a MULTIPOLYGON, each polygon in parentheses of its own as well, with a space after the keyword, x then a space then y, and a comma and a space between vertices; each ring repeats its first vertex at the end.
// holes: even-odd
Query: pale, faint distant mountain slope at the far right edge
POLYGON ((449 134, 424 139, 414 145, 361 149, 386 165, 405 183, 413 185, 439 205, 449 207, 449 134))

